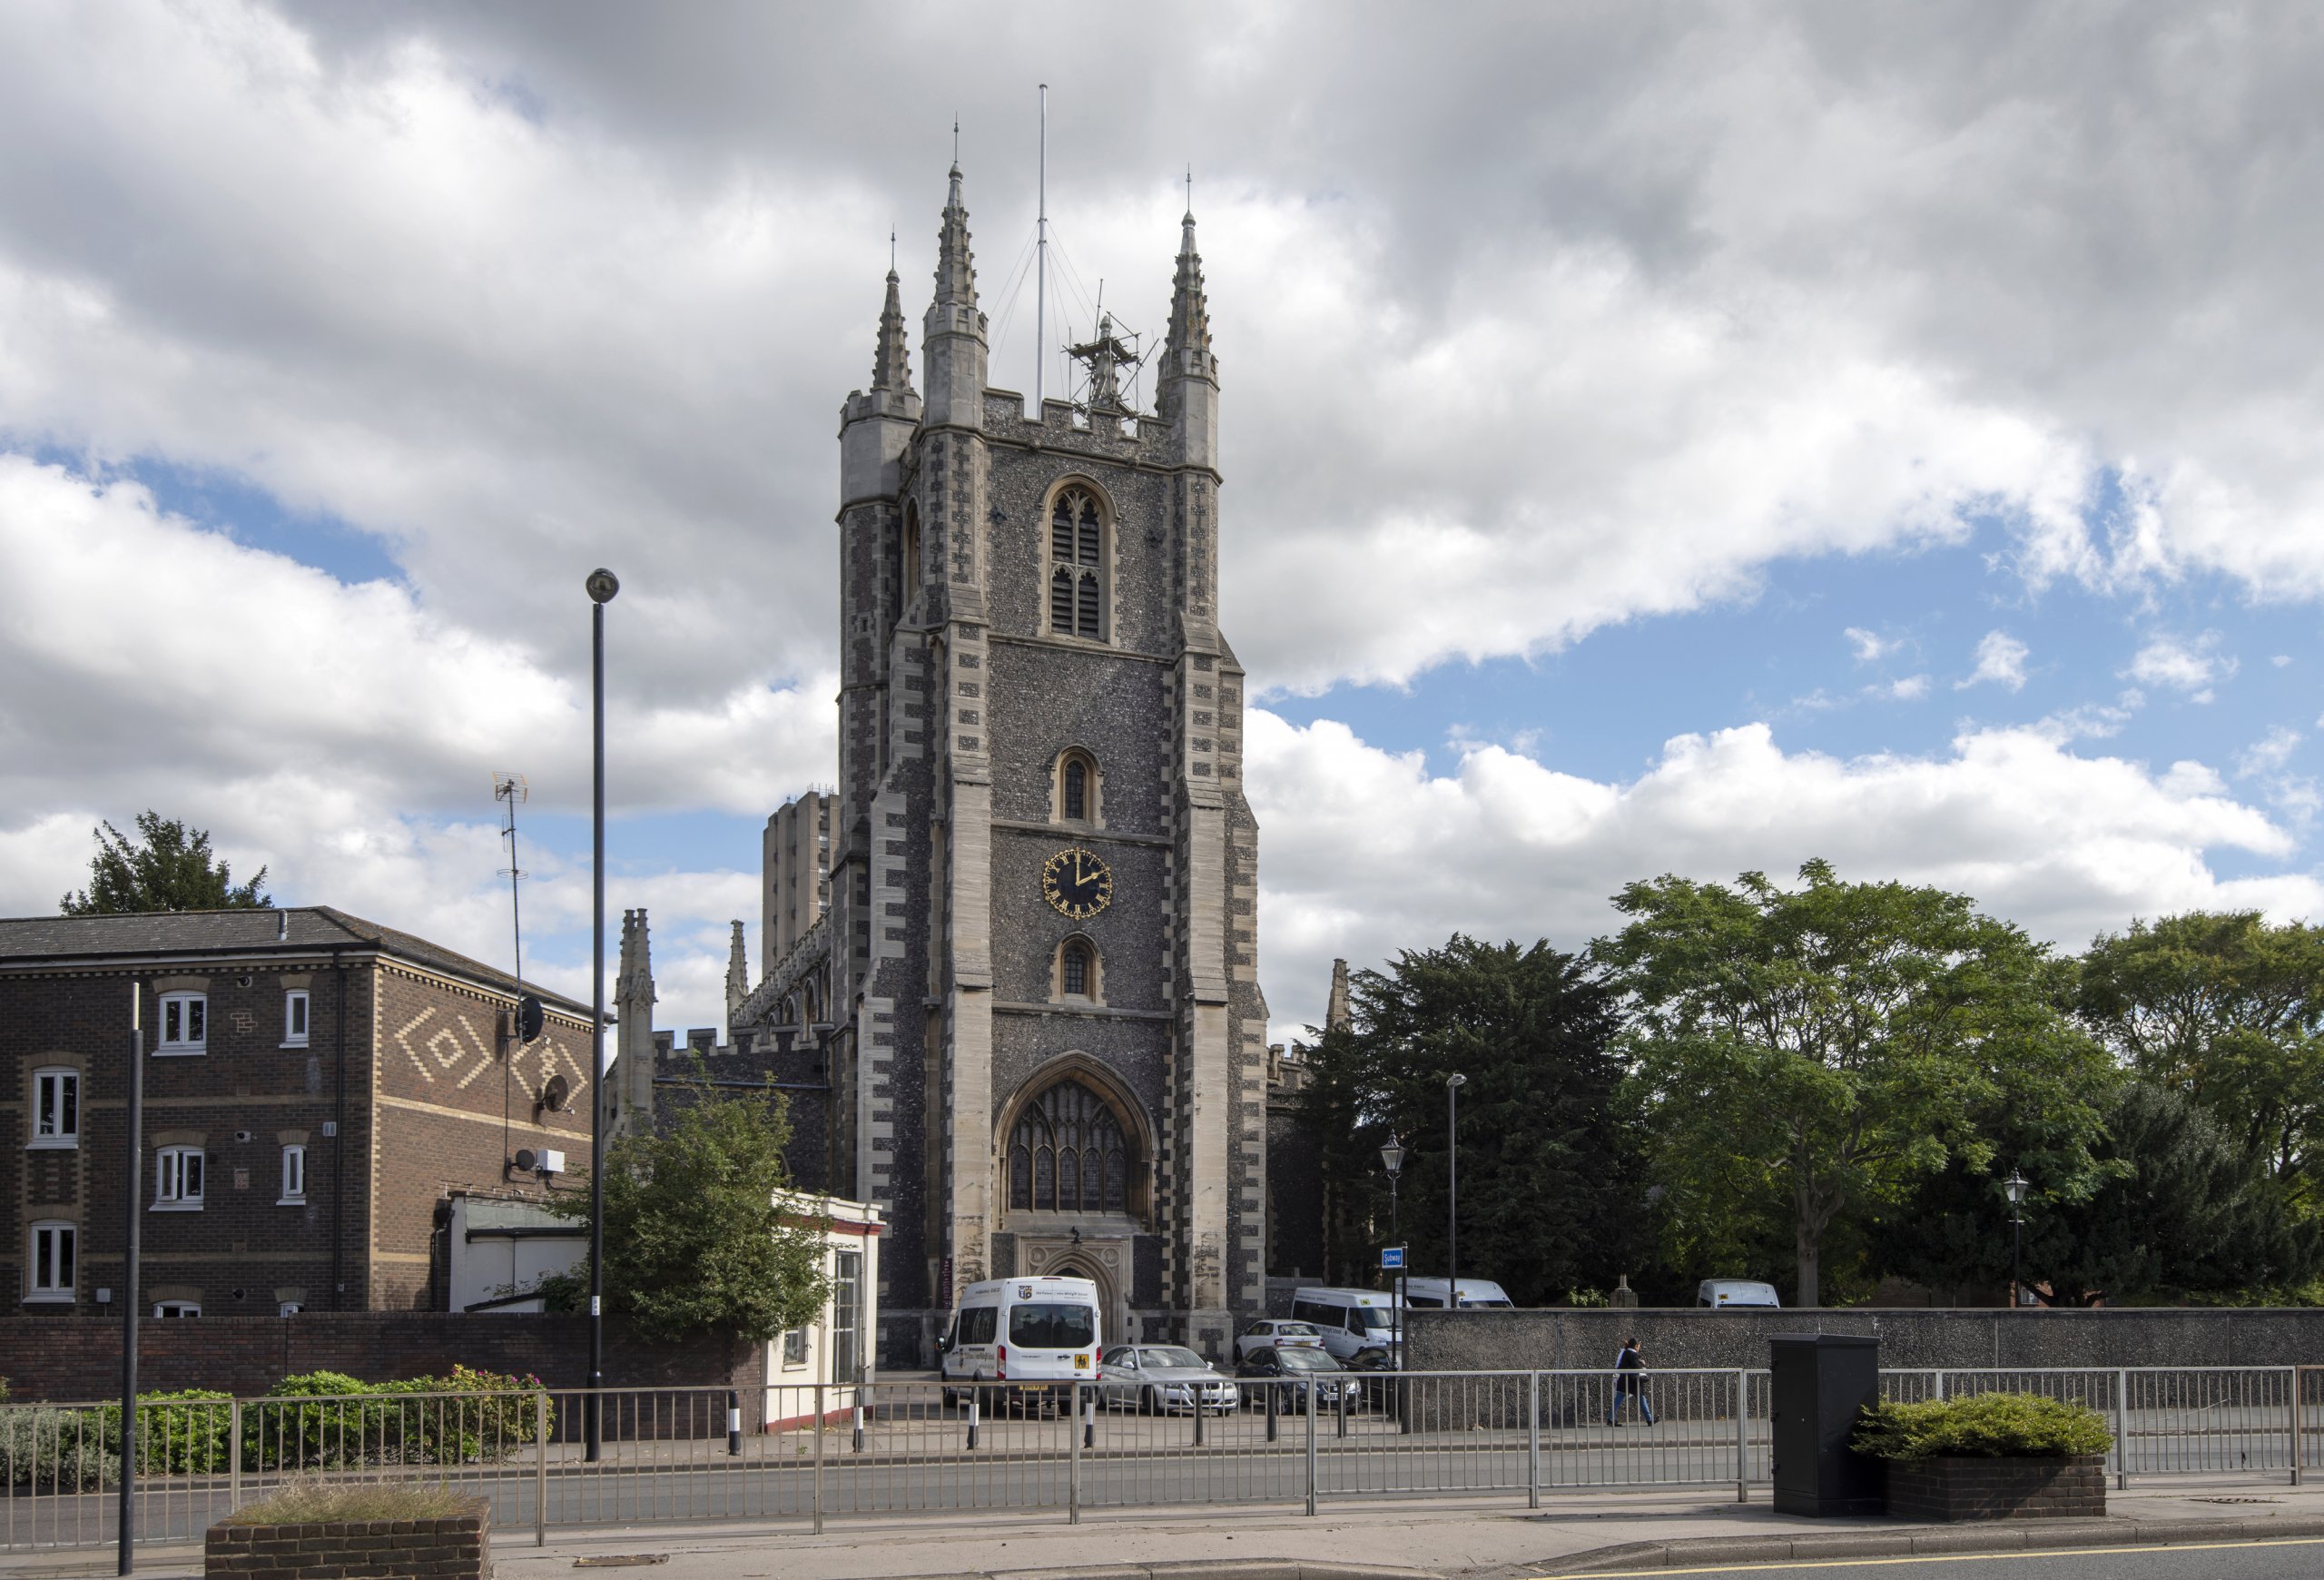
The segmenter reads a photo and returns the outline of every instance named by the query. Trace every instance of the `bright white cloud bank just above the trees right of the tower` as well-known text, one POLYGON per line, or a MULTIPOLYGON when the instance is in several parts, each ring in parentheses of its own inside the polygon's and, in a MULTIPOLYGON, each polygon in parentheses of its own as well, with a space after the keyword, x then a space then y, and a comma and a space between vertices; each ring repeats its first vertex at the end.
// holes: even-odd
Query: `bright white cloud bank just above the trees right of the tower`
POLYGON ((1599 783, 1497 746, 1436 776, 1346 725, 1257 709, 1248 783, 1278 1039, 1320 1015, 1334 955, 1376 967, 1455 929, 1580 948, 1615 927, 1622 883, 1662 871, 1729 881, 1820 855, 1843 878, 1968 892, 2066 948, 2192 906, 2324 915, 2312 874, 2210 869, 2210 850, 2296 848, 2215 771, 2080 757, 2033 727, 1973 730, 1941 757, 1829 757, 1745 725, 1676 737, 1636 781, 1599 783))

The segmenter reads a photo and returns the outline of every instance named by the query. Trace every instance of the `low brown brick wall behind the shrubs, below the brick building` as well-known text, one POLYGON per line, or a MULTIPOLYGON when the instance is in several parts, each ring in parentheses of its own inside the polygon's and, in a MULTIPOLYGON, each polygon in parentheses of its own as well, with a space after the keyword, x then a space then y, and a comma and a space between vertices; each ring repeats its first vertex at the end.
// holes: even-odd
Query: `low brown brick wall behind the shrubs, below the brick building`
MULTIPOLYGON (((588 1317, 349 1310, 137 1324, 142 1392, 211 1387, 253 1396, 304 1371, 395 1382, 444 1376, 453 1364, 586 1387, 588 1317)), ((760 1387, 762 1373, 758 1345, 720 1338, 653 1345, 623 1322, 604 1324, 607 1387, 760 1387)), ((0 1317, 0 1376, 19 1403, 119 1396, 121 1322, 0 1317)))

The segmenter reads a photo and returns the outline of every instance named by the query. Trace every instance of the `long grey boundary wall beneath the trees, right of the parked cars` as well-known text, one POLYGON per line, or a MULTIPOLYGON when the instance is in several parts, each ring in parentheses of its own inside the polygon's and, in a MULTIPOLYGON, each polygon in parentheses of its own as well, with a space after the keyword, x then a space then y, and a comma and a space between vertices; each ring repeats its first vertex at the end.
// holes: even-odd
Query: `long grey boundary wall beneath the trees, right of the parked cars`
POLYGON ((1866 1334, 1882 1366, 2319 1366, 2324 1308, 2099 1310, 1408 1310, 1415 1371, 1597 1371, 1638 1338, 1648 1366, 1766 1366, 1773 1334, 1866 1334))

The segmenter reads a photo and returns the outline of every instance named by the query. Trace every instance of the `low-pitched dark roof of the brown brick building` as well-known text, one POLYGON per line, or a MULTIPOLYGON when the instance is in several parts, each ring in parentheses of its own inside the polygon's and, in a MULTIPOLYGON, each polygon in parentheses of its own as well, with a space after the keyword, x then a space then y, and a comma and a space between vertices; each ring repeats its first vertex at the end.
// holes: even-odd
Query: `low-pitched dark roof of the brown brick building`
MULTIPOLYGON (((325 948, 372 948, 444 976, 460 976, 486 988, 516 992, 507 971, 469 960, 442 943, 430 943, 395 927, 367 922, 332 906, 279 906, 237 911, 135 911, 128 915, 19 915, 0 918, 0 967, 9 964, 98 964, 137 957, 186 955, 311 955, 325 948)), ((588 1020, 588 1004, 546 992, 539 983, 525 990, 567 1015, 588 1020)))

